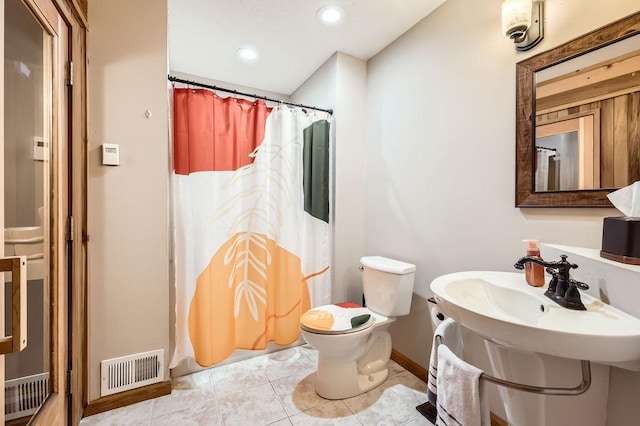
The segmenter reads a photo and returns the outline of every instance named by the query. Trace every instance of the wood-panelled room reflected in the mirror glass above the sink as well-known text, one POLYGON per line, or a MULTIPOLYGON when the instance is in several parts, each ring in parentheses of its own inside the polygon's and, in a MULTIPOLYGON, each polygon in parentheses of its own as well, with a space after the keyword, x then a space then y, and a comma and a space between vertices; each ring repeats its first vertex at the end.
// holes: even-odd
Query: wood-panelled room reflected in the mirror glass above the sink
POLYGON ((632 113, 640 111, 639 47, 640 36, 631 37, 536 73, 536 191, 619 188, 640 178, 632 113), (549 138, 562 139, 569 156, 539 151, 549 138), (546 170, 559 182, 549 184, 546 170))

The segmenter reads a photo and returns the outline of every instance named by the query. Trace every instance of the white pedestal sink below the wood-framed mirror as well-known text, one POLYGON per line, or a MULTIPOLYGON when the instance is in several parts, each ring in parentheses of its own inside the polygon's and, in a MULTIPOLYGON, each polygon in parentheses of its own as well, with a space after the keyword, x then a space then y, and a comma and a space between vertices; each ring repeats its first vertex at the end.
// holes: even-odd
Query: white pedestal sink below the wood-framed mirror
POLYGON ((471 337, 493 342, 483 345, 477 336, 465 337, 465 358, 470 355, 468 362, 488 374, 570 387, 580 380, 576 360, 592 362, 591 387, 578 396, 490 388, 492 410, 497 407, 510 424, 603 426, 607 365, 640 371, 640 320, 583 292, 587 310, 573 311, 544 296, 546 286, 529 286, 523 273, 491 271, 444 275, 431 283, 431 290, 438 309, 475 332, 471 337))

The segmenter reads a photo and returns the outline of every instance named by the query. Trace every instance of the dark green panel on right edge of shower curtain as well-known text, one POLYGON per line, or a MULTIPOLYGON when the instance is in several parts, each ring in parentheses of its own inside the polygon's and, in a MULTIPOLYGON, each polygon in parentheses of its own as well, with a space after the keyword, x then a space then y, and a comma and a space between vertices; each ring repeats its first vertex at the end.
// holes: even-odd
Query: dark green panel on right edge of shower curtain
POLYGON ((304 129, 304 210, 329 223, 329 132, 327 120, 304 129))

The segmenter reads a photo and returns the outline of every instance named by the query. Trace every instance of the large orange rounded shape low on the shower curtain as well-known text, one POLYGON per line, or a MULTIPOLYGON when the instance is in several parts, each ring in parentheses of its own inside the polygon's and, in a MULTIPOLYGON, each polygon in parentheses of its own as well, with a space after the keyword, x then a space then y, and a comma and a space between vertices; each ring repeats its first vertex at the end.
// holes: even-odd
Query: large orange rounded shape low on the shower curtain
POLYGON ((198 276, 189 309, 195 359, 209 366, 235 349, 292 343, 310 307, 300 259, 265 235, 238 233, 198 276))

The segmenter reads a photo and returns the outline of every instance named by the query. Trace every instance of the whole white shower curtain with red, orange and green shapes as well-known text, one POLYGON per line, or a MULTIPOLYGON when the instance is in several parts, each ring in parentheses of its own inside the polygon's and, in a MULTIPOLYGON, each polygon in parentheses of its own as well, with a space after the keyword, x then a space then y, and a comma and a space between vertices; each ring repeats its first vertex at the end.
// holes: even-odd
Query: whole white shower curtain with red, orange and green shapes
POLYGON ((332 120, 173 89, 171 367, 293 343, 330 302, 332 120))

